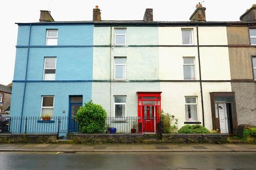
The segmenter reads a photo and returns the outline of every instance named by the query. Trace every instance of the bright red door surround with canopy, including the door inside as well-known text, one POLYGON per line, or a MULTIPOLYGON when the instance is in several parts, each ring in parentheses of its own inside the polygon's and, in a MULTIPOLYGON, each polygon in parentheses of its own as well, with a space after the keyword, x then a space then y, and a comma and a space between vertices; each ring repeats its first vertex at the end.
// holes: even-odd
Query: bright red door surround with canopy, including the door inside
POLYGON ((138 91, 138 132, 155 133, 160 122, 161 91, 138 91))

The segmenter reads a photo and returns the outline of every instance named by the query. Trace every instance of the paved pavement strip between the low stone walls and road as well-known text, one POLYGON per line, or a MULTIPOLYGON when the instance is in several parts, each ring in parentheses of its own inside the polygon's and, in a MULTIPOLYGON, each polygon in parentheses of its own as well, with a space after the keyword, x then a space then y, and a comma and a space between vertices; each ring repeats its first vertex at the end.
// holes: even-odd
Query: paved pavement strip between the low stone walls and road
POLYGON ((255 152, 249 144, 0 144, 1 151, 59 151, 76 152, 255 152))

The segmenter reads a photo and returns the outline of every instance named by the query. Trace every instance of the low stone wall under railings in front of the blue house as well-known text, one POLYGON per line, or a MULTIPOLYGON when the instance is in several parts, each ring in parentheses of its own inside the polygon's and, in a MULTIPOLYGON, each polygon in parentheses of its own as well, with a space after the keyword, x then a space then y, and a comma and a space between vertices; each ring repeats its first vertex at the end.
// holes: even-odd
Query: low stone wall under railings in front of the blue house
POLYGON ((0 143, 55 143, 56 133, 47 134, 1 134, 0 143))

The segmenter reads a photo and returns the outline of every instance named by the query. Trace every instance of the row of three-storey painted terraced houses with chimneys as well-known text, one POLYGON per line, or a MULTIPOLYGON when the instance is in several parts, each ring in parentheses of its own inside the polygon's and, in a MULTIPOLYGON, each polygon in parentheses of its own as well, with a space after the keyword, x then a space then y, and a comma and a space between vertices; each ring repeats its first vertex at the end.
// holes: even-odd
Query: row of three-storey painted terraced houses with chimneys
POLYGON ((179 127, 256 124, 256 5, 236 22, 206 21, 205 10, 188 22, 153 21, 152 9, 103 21, 95 7, 93 21, 41 11, 40 22, 17 23, 11 116, 74 117, 92 99, 108 116, 140 117, 138 132, 155 133, 161 109, 179 127))

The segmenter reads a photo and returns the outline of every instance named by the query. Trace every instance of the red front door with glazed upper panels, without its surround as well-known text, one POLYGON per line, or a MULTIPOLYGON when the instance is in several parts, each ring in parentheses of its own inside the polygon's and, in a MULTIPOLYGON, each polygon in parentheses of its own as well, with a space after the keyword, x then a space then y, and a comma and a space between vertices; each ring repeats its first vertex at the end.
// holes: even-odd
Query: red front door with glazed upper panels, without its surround
POLYGON ((155 132, 155 106, 143 106, 143 124, 145 132, 155 132))

